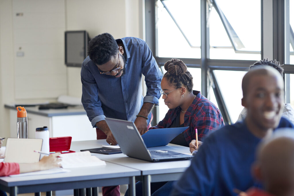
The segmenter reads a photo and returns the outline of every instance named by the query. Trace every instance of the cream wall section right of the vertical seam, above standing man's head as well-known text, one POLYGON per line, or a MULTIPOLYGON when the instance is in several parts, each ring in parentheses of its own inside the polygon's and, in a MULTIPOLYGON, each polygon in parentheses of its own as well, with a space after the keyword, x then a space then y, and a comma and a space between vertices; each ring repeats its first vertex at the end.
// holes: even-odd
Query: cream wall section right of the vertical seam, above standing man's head
MULTIPOLYGON (((140 35, 138 0, 66 0, 66 30, 87 30, 91 38, 110 33, 115 39, 140 35)), ((68 67, 68 94, 81 97, 81 68, 68 67)))

